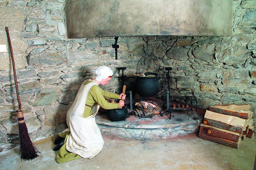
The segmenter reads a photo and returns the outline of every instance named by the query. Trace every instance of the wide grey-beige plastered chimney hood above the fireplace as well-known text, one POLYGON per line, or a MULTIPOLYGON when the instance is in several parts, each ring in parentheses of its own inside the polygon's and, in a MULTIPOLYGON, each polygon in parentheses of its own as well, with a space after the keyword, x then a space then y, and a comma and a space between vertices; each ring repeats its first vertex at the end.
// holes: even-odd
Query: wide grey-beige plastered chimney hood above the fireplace
POLYGON ((229 36, 232 0, 67 0, 68 38, 229 36))

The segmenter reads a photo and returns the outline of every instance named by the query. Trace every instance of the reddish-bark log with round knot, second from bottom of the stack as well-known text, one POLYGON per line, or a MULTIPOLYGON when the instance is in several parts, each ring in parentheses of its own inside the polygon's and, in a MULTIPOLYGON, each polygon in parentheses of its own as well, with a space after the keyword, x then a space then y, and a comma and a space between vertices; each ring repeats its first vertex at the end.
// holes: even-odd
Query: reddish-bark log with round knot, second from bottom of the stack
POLYGON ((204 124, 200 125, 199 132, 208 136, 218 137, 218 138, 226 139, 233 142, 238 142, 240 138, 239 133, 223 130, 220 128, 216 128, 216 127, 212 127, 204 124))

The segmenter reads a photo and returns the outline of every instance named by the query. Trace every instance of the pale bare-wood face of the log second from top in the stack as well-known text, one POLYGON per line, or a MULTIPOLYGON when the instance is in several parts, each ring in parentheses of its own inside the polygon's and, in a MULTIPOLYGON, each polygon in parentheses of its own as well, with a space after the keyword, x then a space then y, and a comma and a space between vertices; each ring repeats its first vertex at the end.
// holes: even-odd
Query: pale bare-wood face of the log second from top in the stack
POLYGON ((223 115, 223 114, 211 112, 208 110, 205 113, 205 118, 216 120, 216 121, 226 123, 226 124, 232 125, 232 126, 242 127, 242 128, 244 128, 247 123, 246 122, 247 120, 245 120, 245 119, 242 119, 242 118, 239 118, 236 116, 223 115))

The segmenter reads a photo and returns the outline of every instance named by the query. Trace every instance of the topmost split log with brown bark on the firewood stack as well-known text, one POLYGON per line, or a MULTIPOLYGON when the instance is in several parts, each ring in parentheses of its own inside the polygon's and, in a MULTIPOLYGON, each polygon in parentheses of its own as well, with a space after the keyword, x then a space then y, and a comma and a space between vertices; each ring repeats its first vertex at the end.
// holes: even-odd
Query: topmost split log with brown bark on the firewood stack
POLYGON ((218 108, 215 106, 210 106, 209 111, 215 112, 215 113, 221 113, 224 115, 236 116, 242 119, 248 119, 248 117, 251 115, 251 111, 249 110, 232 110, 232 109, 218 108))

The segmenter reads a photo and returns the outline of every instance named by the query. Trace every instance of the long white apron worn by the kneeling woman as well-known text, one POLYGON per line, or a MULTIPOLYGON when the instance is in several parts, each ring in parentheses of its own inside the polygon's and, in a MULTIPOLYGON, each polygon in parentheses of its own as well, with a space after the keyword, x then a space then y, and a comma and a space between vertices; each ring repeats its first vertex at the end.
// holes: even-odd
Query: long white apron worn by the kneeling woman
POLYGON ((98 103, 93 105, 91 116, 87 118, 83 117, 88 92, 95 84, 97 85, 96 82, 91 82, 86 85, 82 84, 74 103, 67 112, 67 125, 70 135, 67 138, 66 149, 69 152, 89 159, 98 155, 104 144, 100 129, 94 117, 100 107, 98 103))

